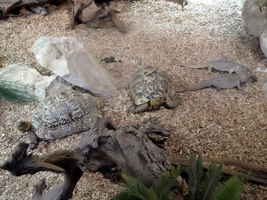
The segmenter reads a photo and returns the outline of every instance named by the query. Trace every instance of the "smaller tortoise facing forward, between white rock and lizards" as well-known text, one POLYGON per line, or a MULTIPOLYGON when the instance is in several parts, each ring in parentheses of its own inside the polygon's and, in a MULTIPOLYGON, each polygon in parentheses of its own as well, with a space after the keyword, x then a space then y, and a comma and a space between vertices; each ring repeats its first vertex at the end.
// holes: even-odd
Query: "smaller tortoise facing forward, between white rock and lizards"
POLYGON ((133 114, 164 107, 173 109, 180 103, 179 98, 170 101, 168 79, 157 67, 145 66, 138 69, 129 89, 137 105, 133 114))

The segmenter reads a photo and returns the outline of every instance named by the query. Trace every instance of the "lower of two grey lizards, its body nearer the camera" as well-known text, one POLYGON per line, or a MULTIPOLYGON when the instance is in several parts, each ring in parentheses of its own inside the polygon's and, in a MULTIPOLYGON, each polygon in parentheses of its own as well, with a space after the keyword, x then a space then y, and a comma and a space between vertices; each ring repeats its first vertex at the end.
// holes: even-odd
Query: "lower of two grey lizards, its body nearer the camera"
POLYGON ((243 83, 243 82, 253 83, 256 81, 257 81, 256 76, 243 72, 243 73, 237 73, 237 74, 222 74, 217 77, 213 77, 211 79, 202 81, 192 87, 185 87, 180 83, 180 87, 182 87, 182 89, 184 90, 193 91, 193 90, 199 90, 199 89, 202 89, 208 86, 214 86, 216 87, 216 90, 219 91, 220 89, 230 89, 230 88, 237 86, 238 90, 244 90, 244 88, 241 87, 240 83, 243 83))

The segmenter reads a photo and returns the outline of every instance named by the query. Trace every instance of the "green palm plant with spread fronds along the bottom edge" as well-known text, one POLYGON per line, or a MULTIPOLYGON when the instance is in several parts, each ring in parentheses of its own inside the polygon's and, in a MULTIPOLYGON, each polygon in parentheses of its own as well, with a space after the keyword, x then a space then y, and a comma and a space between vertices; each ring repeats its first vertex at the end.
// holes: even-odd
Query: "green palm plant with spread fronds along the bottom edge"
MULTIPOLYGON (((190 170, 188 174, 187 200, 235 200, 239 199, 244 184, 249 180, 241 175, 233 175, 222 187, 218 183, 222 178, 223 163, 216 166, 211 162, 206 173, 203 171, 202 156, 198 159, 190 156, 190 170)), ((144 186, 137 179, 124 175, 125 183, 120 185, 125 189, 112 197, 112 200, 168 200, 169 193, 175 188, 176 178, 182 173, 182 167, 166 171, 150 188, 144 186)))

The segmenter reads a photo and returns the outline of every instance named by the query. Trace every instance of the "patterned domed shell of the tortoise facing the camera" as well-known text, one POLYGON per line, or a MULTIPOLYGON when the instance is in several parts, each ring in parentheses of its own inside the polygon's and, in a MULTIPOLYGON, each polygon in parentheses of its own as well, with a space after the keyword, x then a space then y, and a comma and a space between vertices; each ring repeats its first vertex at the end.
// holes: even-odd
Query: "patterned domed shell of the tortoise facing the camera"
POLYGON ((149 102, 154 97, 166 95, 170 101, 168 79, 157 67, 146 66, 138 69, 129 84, 133 101, 136 105, 149 102))

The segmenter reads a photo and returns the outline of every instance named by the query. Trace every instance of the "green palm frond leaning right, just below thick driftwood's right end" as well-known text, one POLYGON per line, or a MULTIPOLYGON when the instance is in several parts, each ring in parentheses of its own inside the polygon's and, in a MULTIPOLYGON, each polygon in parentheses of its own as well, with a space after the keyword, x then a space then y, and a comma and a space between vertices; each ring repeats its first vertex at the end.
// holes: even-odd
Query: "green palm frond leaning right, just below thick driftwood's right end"
POLYGON ((175 186, 176 178, 182 173, 182 167, 171 167, 148 189, 148 199, 168 200, 171 189, 175 186))

